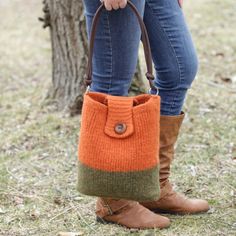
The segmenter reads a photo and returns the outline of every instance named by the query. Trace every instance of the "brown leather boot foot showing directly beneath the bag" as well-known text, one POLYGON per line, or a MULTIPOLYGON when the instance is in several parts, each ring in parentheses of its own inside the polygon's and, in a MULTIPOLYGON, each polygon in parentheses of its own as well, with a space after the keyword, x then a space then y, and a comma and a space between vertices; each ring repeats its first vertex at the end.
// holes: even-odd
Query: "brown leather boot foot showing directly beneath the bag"
POLYGON ((100 223, 116 223, 128 228, 162 229, 170 225, 168 218, 153 213, 138 202, 124 199, 98 198, 96 215, 100 223))

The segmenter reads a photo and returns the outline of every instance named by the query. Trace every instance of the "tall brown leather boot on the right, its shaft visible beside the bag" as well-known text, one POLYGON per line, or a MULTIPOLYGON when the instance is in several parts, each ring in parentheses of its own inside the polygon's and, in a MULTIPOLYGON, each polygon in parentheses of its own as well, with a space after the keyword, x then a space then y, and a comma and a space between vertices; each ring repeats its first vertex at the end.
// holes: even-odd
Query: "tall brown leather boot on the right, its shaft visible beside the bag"
POLYGON ((142 203, 143 206, 155 212, 193 214, 209 210, 207 201, 188 199, 184 195, 176 193, 168 180, 170 164, 174 157, 174 145, 183 119, 184 113, 178 116, 161 116, 159 153, 161 196, 158 201, 142 203))

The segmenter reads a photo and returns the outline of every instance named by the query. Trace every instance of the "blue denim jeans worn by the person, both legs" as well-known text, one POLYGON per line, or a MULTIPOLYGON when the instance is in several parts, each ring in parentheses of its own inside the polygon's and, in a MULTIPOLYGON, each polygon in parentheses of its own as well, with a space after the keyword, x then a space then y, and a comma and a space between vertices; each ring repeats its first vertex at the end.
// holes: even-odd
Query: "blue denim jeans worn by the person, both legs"
MULTIPOLYGON (((99 0, 83 0, 88 38, 99 0)), ((178 115, 198 67, 196 51, 177 0, 132 0, 146 25, 161 96, 161 114, 178 115)), ((127 96, 135 73, 141 30, 127 6, 101 14, 90 91, 127 96)), ((153 91, 151 91, 152 93, 153 91)))

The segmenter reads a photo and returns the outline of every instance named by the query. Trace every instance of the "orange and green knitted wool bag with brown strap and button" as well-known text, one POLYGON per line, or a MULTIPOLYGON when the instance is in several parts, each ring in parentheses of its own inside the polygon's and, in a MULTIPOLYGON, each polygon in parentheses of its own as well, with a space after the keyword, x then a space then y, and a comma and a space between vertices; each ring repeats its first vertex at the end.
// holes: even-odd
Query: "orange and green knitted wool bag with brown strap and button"
MULTIPOLYGON (((135 6, 152 89, 152 58, 148 34, 135 6)), ((92 83, 95 29, 104 5, 92 23, 86 84, 92 83)), ((106 79, 106 78, 104 78, 106 79)), ((157 93, 158 94, 158 93, 157 93)), ((113 96, 84 94, 78 145, 78 190, 86 195, 152 201, 159 198, 160 97, 157 94, 113 96)))

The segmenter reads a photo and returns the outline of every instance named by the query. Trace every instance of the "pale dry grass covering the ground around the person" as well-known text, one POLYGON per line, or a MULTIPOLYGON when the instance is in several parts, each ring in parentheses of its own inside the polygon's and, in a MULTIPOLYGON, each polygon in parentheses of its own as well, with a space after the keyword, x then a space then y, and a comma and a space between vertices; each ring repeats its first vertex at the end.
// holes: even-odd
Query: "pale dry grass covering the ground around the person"
POLYGON ((0 235, 235 235, 235 10, 234 0, 185 3, 200 70, 185 105, 172 180, 212 209, 169 216, 169 229, 137 231, 96 223, 95 199, 76 191, 80 117, 45 102, 51 52, 37 21, 41 3, 1 1, 0 235))

